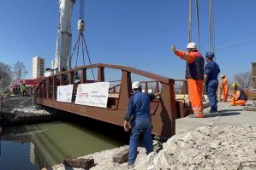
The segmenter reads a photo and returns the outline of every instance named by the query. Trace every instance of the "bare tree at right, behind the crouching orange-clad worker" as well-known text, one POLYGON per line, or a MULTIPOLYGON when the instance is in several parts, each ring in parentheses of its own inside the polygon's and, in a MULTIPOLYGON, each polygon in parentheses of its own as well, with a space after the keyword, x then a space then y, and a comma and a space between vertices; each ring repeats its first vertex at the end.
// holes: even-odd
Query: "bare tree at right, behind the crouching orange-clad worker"
POLYGON ((234 80, 241 88, 250 88, 252 86, 252 74, 250 72, 237 73, 234 75, 234 80))

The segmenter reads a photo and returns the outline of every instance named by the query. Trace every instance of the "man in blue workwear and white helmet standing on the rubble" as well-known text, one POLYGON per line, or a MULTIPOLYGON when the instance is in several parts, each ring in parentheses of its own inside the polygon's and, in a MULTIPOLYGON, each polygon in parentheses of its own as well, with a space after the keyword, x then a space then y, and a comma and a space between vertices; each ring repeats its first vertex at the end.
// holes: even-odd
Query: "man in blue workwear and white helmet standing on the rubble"
POLYGON ((135 81, 132 84, 132 89, 134 95, 129 98, 123 124, 126 132, 129 130, 129 123, 132 128, 129 141, 128 167, 134 167, 140 132, 143 132, 144 135, 146 154, 153 151, 150 102, 152 102, 155 96, 160 95, 160 93, 156 93, 156 95, 143 93, 139 81, 135 81))

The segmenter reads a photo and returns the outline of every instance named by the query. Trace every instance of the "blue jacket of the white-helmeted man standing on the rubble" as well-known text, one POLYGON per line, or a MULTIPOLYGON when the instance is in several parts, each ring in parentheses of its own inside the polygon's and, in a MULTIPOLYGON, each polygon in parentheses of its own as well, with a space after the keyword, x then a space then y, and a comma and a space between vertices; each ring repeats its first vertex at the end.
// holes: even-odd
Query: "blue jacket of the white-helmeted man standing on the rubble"
POLYGON ((153 94, 146 94, 140 91, 134 93, 128 102, 128 108, 124 120, 131 120, 132 116, 136 118, 151 119, 150 103, 155 98, 153 94))

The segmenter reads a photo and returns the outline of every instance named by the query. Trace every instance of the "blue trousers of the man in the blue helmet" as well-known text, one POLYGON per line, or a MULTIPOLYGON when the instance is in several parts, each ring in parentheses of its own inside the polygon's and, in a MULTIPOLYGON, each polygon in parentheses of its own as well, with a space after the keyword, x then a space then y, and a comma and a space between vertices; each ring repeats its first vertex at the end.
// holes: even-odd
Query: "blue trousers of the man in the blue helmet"
POLYGON ((206 84, 207 96, 209 97, 209 103, 211 110, 217 110, 217 80, 210 80, 206 84))

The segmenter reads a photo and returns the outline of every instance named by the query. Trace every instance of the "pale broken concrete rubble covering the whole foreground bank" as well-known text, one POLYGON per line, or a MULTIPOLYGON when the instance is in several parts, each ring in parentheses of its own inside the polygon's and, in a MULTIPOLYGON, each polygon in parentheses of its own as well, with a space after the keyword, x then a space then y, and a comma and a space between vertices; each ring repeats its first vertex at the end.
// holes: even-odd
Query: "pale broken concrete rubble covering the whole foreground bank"
MULTIPOLYGON (((125 149, 104 150, 92 155, 96 163, 92 170, 127 169, 127 162, 118 164, 112 161, 116 152, 125 149)), ((184 132, 170 138, 159 153, 146 155, 146 150, 139 148, 139 155, 134 169, 140 170, 233 170, 256 168, 256 127, 253 126, 204 126, 191 132, 184 132)), ((63 164, 54 170, 68 169, 63 164)), ((79 169, 79 168, 74 168, 79 169)))

